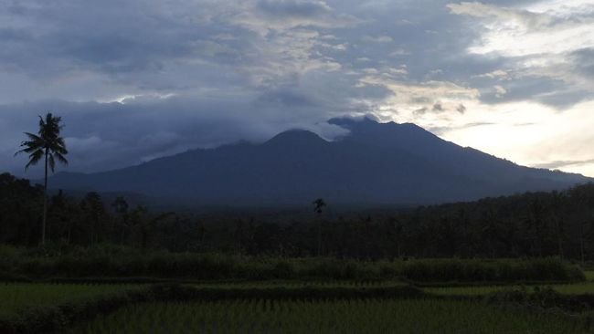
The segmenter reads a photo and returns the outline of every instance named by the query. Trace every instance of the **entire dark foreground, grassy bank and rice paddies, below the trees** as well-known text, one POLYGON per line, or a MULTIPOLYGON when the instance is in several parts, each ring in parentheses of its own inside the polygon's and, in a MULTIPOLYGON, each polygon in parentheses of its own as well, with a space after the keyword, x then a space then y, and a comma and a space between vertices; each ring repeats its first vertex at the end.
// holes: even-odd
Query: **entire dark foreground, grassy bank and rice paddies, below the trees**
POLYGON ((554 259, 355 261, 4 248, 0 333, 589 333, 554 259))

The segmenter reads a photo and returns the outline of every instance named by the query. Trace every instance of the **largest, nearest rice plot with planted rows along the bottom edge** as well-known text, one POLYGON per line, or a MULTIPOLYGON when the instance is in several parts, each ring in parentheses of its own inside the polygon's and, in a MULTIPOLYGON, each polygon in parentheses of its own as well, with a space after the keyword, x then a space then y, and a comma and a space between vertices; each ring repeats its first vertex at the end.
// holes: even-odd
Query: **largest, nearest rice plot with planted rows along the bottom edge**
POLYGON ((71 333, 585 333, 585 320, 446 300, 143 303, 71 333))

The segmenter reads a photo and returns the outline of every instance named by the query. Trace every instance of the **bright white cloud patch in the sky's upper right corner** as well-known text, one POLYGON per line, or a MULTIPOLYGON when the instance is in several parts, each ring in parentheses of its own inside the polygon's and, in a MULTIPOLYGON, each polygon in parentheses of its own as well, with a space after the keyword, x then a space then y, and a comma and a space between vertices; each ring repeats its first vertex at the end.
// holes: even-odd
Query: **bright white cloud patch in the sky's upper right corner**
MULTIPOLYGON (((482 26, 483 33, 468 47, 469 53, 503 57, 514 73, 513 78, 507 71, 477 78, 512 79, 518 88, 515 90, 524 93, 523 99, 530 99, 528 91, 532 90, 532 96, 544 97, 537 98, 540 102, 558 109, 594 98, 594 81, 580 56, 580 50, 594 47, 591 2, 546 0, 514 7, 464 2, 448 8, 451 14, 475 18, 478 22, 473 24, 482 26), (537 91, 534 80, 541 82, 537 91), (523 82, 529 87, 523 88, 523 82)), ((502 98, 504 94, 498 90, 496 96, 502 98)), ((509 96, 507 100, 516 98, 509 96)))

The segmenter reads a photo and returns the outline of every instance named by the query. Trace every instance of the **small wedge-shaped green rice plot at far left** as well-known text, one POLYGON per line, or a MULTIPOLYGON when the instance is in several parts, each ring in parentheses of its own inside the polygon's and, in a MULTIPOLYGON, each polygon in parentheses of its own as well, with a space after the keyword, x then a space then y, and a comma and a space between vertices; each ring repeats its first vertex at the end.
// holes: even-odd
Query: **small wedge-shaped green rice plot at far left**
POLYGON ((133 285, 0 283, 0 316, 12 316, 26 308, 48 308, 112 292, 133 285))

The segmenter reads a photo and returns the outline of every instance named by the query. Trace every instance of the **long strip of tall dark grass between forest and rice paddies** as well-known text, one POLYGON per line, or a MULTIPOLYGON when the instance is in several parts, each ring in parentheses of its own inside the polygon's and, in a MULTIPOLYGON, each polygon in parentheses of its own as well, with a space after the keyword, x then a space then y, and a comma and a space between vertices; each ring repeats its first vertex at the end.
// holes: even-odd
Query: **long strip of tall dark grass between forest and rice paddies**
POLYGON ((68 249, 0 247, 0 277, 12 280, 405 280, 574 282, 579 266, 556 258, 363 261, 146 252, 120 246, 68 249))

